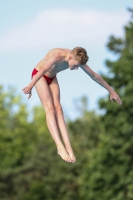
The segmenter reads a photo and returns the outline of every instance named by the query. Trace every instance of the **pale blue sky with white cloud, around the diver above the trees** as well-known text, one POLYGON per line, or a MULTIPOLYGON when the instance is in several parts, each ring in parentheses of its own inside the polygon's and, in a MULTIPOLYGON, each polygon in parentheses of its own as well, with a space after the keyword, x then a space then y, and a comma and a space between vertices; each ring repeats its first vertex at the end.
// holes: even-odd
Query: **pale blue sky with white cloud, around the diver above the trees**
MULTIPOLYGON (((89 54, 88 65, 97 73, 107 73, 104 62, 112 56, 106 44, 112 34, 123 36, 123 26, 130 19, 127 7, 133 8, 132 0, 1 0, 0 84, 15 86, 21 93, 32 69, 55 47, 82 46, 89 54)), ((108 94, 81 69, 66 70, 57 77, 68 116, 76 115, 75 99, 86 95, 89 108, 98 110, 98 99, 108 94)), ((28 105, 40 104, 35 90, 30 101, 23 98, 28 105)))

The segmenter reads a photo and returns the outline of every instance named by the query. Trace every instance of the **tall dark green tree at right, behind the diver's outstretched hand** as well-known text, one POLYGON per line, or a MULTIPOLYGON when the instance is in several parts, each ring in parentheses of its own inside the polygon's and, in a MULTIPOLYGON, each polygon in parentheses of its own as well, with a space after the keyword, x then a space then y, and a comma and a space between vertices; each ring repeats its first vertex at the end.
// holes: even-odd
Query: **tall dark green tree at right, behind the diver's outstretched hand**
MULTIPOLYGON (((129 10, 133 14, 133 10, 129 10)), ((117 55, 107 60, 108 74, 102 77, 120 95, 123 106, 101 99, 105 114, 101 123, 98 148, 88 152, 91 160, 85 165, 81 188, 87 200, 133 199, 133 18, 124 28, 124 38, 110 37, 108 49, 117 55)))

